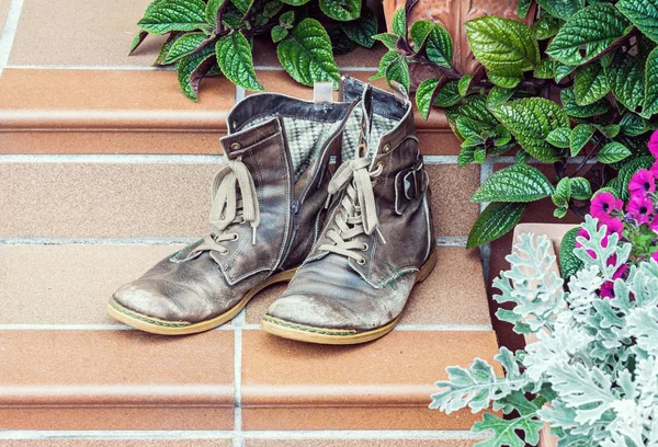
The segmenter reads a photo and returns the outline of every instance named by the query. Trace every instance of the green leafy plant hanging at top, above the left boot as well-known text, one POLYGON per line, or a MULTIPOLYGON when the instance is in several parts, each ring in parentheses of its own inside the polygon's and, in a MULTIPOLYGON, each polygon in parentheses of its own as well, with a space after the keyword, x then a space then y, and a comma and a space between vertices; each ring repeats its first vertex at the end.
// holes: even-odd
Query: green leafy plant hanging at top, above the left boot
POLYGON ((282 67, 297 81, 340 79, 333 54, 372 47, 377 18, 361 0, 155 0, 138 22, 133 53, 148 34, 167 35, 155 65, 173 65, 181 91, 196 101, 201 80, 224 74, 263 90, 253 66, 253 39, 277 44, 282 67), (326 28, 318 20, 337 24, 326 28))

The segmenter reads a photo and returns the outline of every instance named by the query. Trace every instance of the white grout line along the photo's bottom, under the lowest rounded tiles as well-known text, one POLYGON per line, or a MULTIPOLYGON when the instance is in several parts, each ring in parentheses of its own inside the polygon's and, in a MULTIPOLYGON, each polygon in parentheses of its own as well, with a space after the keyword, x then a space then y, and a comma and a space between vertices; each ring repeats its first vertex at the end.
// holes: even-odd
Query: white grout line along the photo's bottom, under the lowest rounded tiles
MULTIPOLYGON (((230 439, 230 431, 0 431, 0 439, 230 439)), ((484 439, 484 434, 450 429, 327 429, 242 432, 247 439, 484 439)))

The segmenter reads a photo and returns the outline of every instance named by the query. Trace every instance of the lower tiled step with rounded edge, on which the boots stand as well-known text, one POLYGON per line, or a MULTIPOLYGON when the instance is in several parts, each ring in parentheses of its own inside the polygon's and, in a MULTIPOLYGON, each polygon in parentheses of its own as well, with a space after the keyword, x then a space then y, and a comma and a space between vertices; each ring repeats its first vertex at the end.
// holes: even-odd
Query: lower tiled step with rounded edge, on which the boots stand
POLYGON ((427 406, 446 366, 497 349, 475 253, 440 248, 399 326, 359 346, 261 332, 259 317, 281 288, 231 324, 186 337, 140 333, 104 314, 120 284, 177 249, 0 245, 0 429, 461 433, 479 419, 427 406))

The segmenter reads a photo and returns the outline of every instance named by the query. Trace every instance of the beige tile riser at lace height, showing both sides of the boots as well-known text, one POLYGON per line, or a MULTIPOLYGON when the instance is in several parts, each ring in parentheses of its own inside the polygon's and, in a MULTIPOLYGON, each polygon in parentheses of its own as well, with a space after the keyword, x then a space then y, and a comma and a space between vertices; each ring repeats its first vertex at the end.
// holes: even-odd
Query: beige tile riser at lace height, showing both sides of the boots
MULTIPOLYGON (((0 209, 12 217, 0 221, 0 239, 202 236, 220 160, 154 157, 0 157, 0 209)), ((478 214, 468 202, 478 167, 429 160, 428 172, 438 236, 467 236, 478 214)))

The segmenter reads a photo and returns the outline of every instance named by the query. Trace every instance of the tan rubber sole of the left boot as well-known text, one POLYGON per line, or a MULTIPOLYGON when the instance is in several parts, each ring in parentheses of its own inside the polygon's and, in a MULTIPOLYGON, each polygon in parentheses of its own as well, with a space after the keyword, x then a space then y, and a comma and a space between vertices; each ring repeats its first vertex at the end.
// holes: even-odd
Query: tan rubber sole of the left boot
POLYGON ((166 321, 154 317, 145 316, 134 310, 127 309, 120 305, 114 298, 111 298, 107 302, 107 313, 110 317, 138 329, 144 332, 150 332, 159 335, 189 335, 196 334, 198 332, 205 332, 211 329, 217 328, 237 316, 240 310, 247 306, 247 303, 253 298, 259 291, 265 287, 271 286, 275 283, 290 282, 295 275, 296 268, 292 268, 285 272, 277 273, 268 278, 263 284, 258 285, 245 295, 237 305, 228 309, 226 312, 217 316, 211 320, 200 321, 197 323, 189 323, 186 321, 166 321))

